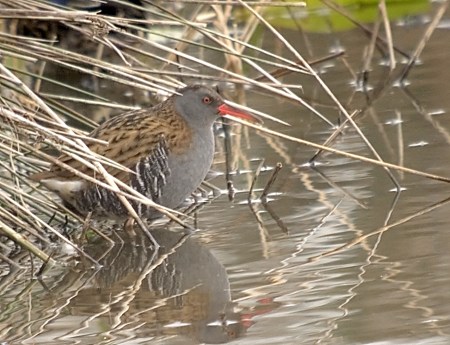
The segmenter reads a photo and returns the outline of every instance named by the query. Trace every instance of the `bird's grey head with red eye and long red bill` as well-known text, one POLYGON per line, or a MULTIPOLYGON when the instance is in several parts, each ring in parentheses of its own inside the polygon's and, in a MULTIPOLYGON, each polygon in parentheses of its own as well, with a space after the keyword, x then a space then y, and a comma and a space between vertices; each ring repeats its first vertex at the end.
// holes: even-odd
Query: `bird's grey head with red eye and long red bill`
POLYGON ((242 110, 226 105, 213 89, 202 85, 187 86, 174 96, 175 110, 195 128, 211 127, 219 116, 231 115, 254 121, 256 118, 242 110))

